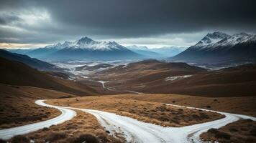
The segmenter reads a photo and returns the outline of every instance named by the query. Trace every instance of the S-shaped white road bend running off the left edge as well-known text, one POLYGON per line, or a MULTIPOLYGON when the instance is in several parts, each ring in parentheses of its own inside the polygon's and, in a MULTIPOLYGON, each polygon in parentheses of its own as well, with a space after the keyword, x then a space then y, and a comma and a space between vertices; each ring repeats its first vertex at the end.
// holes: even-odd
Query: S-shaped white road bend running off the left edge
POLYGON ((44 100, 37 100, 35 104, 38 104, 43 107, 53 107, 55 109, 60 110, 61 114, 58 117, 43 121, 43 122, 37 122, 33 124, 27 124, 20 127, 13 127, 10 129, 1 129, 0 130, 0 139, 10 139, 16 135, 19 134, 27 134, 29 132, 35 132, 38 129, 42 129, 44 127, 50 127, 54 124, 60 124, 65 121, 68 121, 76 116, 76 112, 70 109, 65 109, 62 107, 52 106, 49 104, 45 104, 44 100))

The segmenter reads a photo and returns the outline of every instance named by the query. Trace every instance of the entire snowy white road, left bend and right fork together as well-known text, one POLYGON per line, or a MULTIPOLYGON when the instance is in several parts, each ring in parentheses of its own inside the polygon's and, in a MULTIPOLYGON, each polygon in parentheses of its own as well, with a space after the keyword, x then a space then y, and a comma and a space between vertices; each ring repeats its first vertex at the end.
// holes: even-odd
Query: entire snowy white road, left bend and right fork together
MULTIPOLYGON (((201 124, 193 124, 191 126, 186 127, 161 127, 155 124, 140 122, 136 119, 132 119, 129 117, 123 117, 114 113, 102 112, 99 110, 93 109, 81 109, 81 108, 73 108, 73 107, 58 107, 53 105, 48 105, 43 102, 43 100, 38 100, 36 104, 45 106, 45 107, 54 107, 59 109, 62 114, 56 117, 52 122, 47 120, 45 122, 39 122, 35 124, 28 124, 22 127, 15 127, 11 129, 3 129, 0 130, 0 138, 9 139, 17 134, 26 134, 28 132, 35 131, 37 129, 42 129, 43 127, 50 127, 52 124, 60 124, 65 122, 68 119, 72 119, 72 117, 76 116, 76 112, 72 111, 72 109, 81 110, 83 112, 87 112, 93 114, 95 116, 102 127, 110 132, 111 135, 115 137, 116 133, 122 134, 127 142, 201 142, 199 139, 199 135, 202 132, 206 132, 211 128, 220 128, 229 124, 231 122, 235 122, 238 119, 252 119, 256 120, 255 117, 249 117, 241 114, 229 114, 225 112, 217 112, 219 114, 224 114, 225 117, 222 119, 218 119, 212 122, 206 122, 201 124), (64 112, 64 113, 63 113, 64 112), (68 112, 68 114, 66 113, 68 112), (63 115, 64 114, 64 115, 63 115), (68 115, 68 117, 66 117, 68 115)), ((166 104, 168 106, 175 107, 183 107, 173 104, 166 104)), ((186 107, 188 109, 198 109, 193 107, 186 107)), ((216 112, 207 109, 201 109, 206 112, 216 112)))

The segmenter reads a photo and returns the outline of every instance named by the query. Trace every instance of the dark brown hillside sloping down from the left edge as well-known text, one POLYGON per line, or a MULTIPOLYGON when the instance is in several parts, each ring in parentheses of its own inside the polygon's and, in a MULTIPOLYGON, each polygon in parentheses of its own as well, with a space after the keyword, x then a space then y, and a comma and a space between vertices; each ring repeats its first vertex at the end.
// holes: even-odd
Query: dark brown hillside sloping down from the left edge
POLYGON ((0 83, 2 84, 40 87, 81 96, 97 94, 96 89, 85 84, 49 76, 17 61, 1 58, 0 72, 0 83))

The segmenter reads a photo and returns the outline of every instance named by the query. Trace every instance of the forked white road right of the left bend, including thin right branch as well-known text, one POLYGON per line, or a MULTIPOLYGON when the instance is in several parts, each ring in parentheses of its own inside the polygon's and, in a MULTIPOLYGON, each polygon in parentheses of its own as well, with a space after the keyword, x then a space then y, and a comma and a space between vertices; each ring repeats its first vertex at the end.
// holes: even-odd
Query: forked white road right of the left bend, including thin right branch
MULTIPOLYGON (((183 107, 173 104, 166 104, 168 106, 183 107)), ((193 124, 186 127, 161 127, 155 124, 140 122, 137 119, 130 117, 123 117, 114 113, 102 112, 93 109, 81 109, 66 107, 68 109, 77 109, 83 112, 93 114, 101 126, 115 136, 116 133, 122 134, 127 142, 172 142, 172 143, 186 143, 186 142, 201 142, 199 135, 206 132, 211 128, 220 128, 225 125, 236 122, 239 119, 252 119, 255 117, 249 117, 241 114, 229 114, 225 112, 217 112, 224 114, 225 117, 212 122, 205 122, 201 124, 193 124)), ((188 109, 198 109, 194 107, 185 107, 188 109)), ((206 112, 216 112, 207 109, 200 109, 206 112)))

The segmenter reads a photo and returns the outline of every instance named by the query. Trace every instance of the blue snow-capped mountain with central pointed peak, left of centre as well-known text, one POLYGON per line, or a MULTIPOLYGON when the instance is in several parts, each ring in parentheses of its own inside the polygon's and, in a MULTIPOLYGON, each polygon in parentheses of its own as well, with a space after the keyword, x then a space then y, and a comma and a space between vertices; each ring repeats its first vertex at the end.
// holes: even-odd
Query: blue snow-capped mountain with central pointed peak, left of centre
POLYGON ((115 41, 94 41, 82 37, 76 41, 65 41, 63 44, 53 44, 35 49, 28 53, 41 59, 140 59, 143 56, 115 41))

